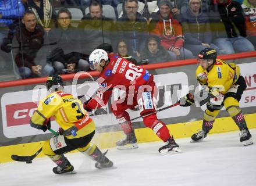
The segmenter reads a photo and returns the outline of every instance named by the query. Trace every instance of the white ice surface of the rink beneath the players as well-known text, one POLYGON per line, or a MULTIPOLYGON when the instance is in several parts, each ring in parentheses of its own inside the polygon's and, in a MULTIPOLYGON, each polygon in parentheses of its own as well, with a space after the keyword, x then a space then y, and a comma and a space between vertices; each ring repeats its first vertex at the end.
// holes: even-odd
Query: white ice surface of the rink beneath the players
MULTIPOLYGON (((204 141, 190 143, 177 139, 182 153, 160 155, 163 142, 139 144, 138 149, 109 149, 115 169, 98 170, 93 160, 81 153, 67 155, 77 174, 55 175, 48 158, 33 163, 0 164, 2 186, 175 186, 175 185, 256 185, 256 129, 251 129, 254 145, 243 146, 239 131, 208 135, 204 141)), ((36 151, 35 149, 34 151, 36 151)), ((33 151, 33 152, 34 152, 33 151)))

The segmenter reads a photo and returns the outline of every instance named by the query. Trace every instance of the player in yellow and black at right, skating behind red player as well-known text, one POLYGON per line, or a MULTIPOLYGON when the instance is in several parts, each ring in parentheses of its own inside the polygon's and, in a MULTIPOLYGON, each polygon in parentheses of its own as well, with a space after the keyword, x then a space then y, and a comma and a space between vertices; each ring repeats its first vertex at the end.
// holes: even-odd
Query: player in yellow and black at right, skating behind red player
MULTIPOLYGON (((240 129, 240 142, 245 146, 251 145, 253 140, 239 106, 241 95, 246 90, 246 82, 240 75, 240 67, 216 58, 217 53, 212 48, 205 48, 198 54, 199 66, 195 71, 195 76, 201 85, 207 87, 205 90, 208 90, 208 97, 205 99, 207 109, 202 121, 202 130, 191 136, 191 142, 201 141, 207 137, 216 116, 225 106, 226 111, 240 129)), ((194 98, 189 95, 185 96, 185 104, 180 106, 193 104, 194 98)))

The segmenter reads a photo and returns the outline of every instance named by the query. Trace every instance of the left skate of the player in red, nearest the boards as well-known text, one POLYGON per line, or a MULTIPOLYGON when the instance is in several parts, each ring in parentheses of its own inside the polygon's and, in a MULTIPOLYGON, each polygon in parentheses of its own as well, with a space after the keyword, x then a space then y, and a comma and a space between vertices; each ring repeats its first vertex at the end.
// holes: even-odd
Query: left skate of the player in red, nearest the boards
POLYGON ((117 149, 137 149, 137 139, 134 134, 127 134, 126 138, 116 142, 117 149))

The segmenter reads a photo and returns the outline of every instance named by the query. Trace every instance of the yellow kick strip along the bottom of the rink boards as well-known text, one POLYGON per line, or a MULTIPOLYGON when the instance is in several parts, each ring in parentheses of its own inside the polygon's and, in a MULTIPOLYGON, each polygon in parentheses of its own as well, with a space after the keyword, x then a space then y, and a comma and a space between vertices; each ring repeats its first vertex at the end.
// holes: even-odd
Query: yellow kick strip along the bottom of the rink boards
MULTIPOLYGON (((245 115, 248 128, 256 128, 256 114, 245 115)), ((191 121, 186 123, 168 124, 170 133, 174 138, 190 137, 193 133, 197 132, 202 125, 202 121, 191 121)), ((237 131, 237 143, 239 143, 239 130, 234 121, 230 117, 221 117, 216 119, 214 127, 210 131, 212 133, 225 133, 227 131, 237 131)), ((150 128, 138 128, 135 130, 138 143, 160 141, 157 135, 150 128)), ((121 131, 109 133, 97 133, 94 135, 93 142, 101 149, 115 147, 115 142, 125 137, 121 131)), ((254 138, 254 137, 253 137, 254 138)), ((188 141, 189 143, 189 141, 188 141)), ((10 162, 11 155, 33 155, 39 148, 41 148, 44 141, 31 142, 27 144, 9 145, 0 147, 0 163, 10 162)), ((73 151, 76 152, 76 151, 73 151)), ((43 157, 40 153, 37 158, 43 157)))

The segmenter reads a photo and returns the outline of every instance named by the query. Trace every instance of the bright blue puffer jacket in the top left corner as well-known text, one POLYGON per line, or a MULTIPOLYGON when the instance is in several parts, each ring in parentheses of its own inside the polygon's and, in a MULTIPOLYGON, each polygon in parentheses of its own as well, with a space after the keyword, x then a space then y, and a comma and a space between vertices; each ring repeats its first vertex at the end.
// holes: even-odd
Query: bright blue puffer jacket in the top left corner
POLYGON ((20 0, 1 0, 0 1, 0 27, 8 27, 13 23, 13 19, 23 16, 25 9, 20 0))

